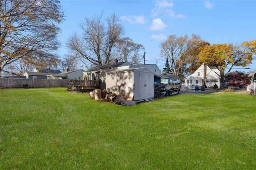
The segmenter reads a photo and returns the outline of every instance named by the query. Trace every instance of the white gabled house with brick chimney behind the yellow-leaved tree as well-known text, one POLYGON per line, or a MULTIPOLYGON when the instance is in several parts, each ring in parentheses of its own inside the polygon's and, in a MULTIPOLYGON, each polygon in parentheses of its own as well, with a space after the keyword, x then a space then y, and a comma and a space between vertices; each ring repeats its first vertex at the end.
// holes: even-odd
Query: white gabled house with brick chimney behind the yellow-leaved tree
POLYGON ((220 88, 220 71, 217 67, 208 67, 202 64, 194 73, 185 78, 185 86, 194 84, 202 86, 204 81, 207 87, 213 87, 215 84, 220 88))

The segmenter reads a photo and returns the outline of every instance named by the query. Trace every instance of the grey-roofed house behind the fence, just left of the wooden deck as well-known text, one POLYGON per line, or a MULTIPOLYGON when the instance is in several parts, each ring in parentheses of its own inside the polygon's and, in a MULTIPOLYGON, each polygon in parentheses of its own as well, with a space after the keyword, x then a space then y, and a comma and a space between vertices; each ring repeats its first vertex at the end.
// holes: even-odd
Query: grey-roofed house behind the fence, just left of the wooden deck
POLYGON ((83 79, 83 69, 79 70, 73 70, 73 71, 68 71, 68 72, 63 72, 60 74, 50 74, 47 76, 47 79, 70 79, 70 80, 75 80, 75 79, 83 79))

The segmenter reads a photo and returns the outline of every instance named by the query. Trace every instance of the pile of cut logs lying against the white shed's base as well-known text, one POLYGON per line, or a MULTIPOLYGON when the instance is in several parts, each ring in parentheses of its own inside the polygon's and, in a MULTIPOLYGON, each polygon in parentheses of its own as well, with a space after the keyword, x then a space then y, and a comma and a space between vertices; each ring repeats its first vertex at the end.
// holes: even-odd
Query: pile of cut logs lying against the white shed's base
POLYGON ((106 90, 95 89, 90 92, 90 97, 95 100, 101 100, 106 102, 112 102, 117 105, 122 106, 132 106, 135 105, 135 101, 126 101, 120 95, 116 95, 116 93, 108 92, 106 90))

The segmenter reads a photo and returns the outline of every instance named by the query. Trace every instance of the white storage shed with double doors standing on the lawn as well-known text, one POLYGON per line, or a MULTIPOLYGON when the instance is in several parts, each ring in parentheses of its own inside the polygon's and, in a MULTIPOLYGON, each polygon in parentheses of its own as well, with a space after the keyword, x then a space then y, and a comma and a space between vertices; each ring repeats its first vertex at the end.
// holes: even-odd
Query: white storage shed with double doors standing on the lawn
POLYGON ((146 68, 121 69, 106 73, 106 90, 140 102, 154 98, 154 73, 146 68))

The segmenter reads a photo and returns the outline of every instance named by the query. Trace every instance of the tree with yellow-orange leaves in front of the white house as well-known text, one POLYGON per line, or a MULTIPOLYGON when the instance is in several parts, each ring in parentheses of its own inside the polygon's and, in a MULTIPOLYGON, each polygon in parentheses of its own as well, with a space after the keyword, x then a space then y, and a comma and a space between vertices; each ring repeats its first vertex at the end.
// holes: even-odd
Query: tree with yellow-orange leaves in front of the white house
POLYGON ((256 40, 239 44, 213 44, 206 45, 199 53, 199 62, 209 66, 216 66, 220 71, 220 89, 224 88, 225 77, 232 67, 246 67, 252 63, 256 53, 256 40), (227 66, 230 66, 225 73, 227 66))

